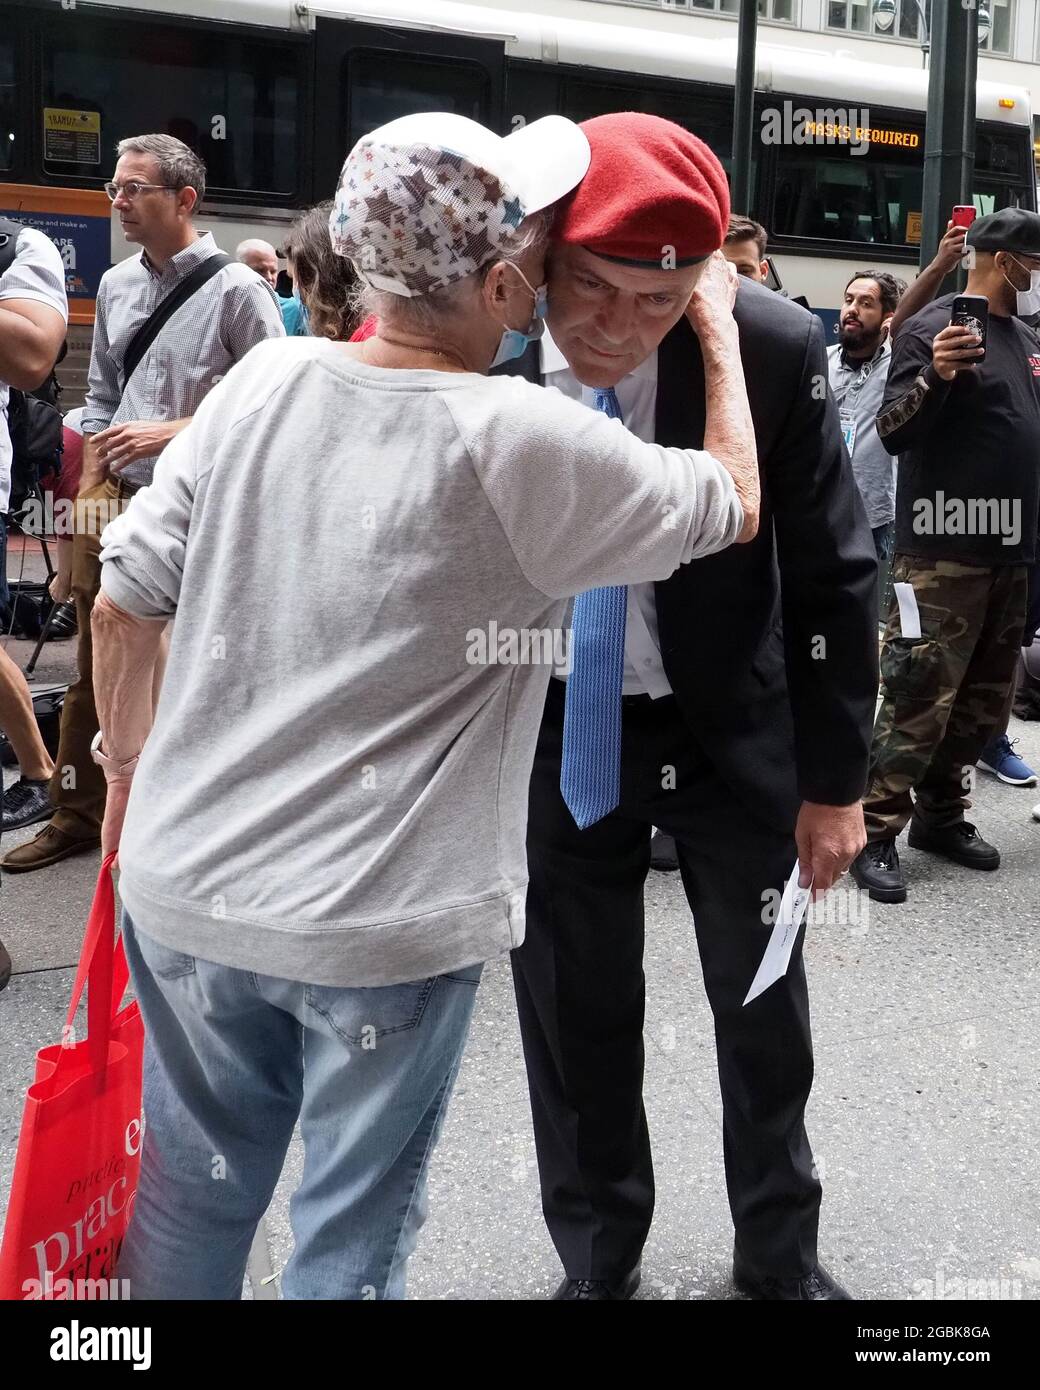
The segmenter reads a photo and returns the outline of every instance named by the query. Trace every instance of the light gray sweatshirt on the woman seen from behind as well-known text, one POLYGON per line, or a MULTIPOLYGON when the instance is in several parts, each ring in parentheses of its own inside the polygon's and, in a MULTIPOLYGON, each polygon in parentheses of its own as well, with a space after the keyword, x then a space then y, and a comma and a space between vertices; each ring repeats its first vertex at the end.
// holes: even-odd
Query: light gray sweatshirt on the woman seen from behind
POLYGON ((175 614, 120 847, 135 923, 328 986, 519 945, 552 660, 524 630, 741 525, 710 455, 559 392, 254 348, 101 537, 104 592, 175 614))

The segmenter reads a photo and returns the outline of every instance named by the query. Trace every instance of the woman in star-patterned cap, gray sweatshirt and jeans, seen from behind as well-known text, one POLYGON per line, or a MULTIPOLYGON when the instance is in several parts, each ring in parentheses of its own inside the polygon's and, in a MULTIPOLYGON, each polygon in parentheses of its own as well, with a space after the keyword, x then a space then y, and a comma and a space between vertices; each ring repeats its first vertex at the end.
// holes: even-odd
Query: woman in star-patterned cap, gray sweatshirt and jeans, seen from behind
POLYGON ((485 375, 539 331, 541 213, 587 164, 559 117, 363 139, 331 229, 377 334, 254 349, 104 532, 96 756, 147 1030, 136 1298, 239 1297, 298 1119, 282 1293, 403 1295, 481 965, 523 940, 567 600, 755 532, 715 261, 684 272, 704 450, 485 375))

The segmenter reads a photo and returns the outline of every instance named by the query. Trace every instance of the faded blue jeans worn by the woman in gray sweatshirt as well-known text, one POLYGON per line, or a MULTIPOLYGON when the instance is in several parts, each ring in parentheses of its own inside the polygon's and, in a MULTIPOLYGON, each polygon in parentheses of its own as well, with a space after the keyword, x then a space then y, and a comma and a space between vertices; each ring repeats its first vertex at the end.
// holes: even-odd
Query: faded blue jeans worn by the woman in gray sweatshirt
POLYGON ((241 1298, 299 1118, 282 1297, 403 1298, 482 966, 328 988, 171 951, 127 912, 122 933, 147 1037, 131 1297, 241 1298))

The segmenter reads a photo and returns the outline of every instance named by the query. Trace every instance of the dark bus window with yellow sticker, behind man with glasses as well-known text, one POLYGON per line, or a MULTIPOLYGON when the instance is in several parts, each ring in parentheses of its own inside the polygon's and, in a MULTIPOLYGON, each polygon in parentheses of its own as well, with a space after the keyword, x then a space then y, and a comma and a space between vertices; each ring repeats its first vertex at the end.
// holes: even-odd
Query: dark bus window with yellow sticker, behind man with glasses
POLYGON ((295 193, 296 46, 95 18, 51 32, 39 111, 50 177, 110 178, 118 140, 163 132, 203 157, 214 192, 295 193), (72 118, 79 140, 57 129, 72 118))

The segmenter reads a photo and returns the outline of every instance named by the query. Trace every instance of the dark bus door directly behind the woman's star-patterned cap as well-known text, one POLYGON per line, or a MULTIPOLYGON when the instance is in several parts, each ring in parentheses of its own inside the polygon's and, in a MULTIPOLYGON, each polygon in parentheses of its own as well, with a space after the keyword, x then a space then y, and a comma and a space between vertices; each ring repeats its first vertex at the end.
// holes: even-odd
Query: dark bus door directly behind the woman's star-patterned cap
POLYGON ((502 129, 505 42, 318 18, 314 196, 331 197, 348 152, 399 115, 453 111, 502 129))

